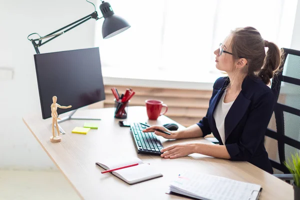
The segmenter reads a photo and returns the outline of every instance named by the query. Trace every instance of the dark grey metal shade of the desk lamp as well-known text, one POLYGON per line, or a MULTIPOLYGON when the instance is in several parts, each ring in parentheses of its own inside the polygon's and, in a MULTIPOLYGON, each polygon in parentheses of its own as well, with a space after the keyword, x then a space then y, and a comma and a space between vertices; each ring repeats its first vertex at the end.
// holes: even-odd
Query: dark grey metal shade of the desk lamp
POLYGON ((102 37, 104 39, 112 37, 124 30, 128 29, 130 25, 125 19, 120 16, 116 16, 108 2, 102 2, 100 4, 100 10, 104 17, 102 25, 102 37))

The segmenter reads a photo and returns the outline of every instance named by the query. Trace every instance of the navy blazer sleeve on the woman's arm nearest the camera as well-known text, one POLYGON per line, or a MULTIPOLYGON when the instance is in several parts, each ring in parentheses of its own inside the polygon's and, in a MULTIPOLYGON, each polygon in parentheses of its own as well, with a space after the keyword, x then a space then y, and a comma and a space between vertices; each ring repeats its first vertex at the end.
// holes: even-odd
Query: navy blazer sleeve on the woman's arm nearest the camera
POLYGON ((255 100, 239 141, 225 144, 231 160, 249 161, 251 159, 264 138, 274 104, 274 96, 271 91, 263 93, 255 100))

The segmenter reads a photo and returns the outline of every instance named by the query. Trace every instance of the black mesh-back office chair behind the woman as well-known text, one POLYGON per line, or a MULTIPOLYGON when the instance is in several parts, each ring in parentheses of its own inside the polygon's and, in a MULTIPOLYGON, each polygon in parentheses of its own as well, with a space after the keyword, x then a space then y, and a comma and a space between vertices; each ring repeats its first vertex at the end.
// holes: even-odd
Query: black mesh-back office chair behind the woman
POLYGON ((271 82, 277 102, 266 130, 265 146, 268 147, 274 175, 283 180, 292 180, 284 161, 291 159, 291 154, 300 149, 300 51, 288 48, 281 50, 283 60, 279 73, 271 82))

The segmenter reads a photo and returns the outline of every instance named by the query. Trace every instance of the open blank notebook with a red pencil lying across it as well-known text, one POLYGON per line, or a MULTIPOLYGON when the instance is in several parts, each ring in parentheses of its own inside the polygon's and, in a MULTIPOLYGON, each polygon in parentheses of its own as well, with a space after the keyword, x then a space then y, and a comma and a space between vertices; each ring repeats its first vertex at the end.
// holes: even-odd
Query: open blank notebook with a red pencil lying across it
POLYGON ((137 182, 142 182, 162 176, 158 169, 151 166, 150 164, 143 163, 137 157, 129 157, 125 159, 107 158, 101 160, 100 162, 96 162, 98 166, 101 166, 105 170, 134 163, 138 163, 138 165, 118 169, 112 171, 111 173, 124 180, 128 184, 134 184, 137 182))

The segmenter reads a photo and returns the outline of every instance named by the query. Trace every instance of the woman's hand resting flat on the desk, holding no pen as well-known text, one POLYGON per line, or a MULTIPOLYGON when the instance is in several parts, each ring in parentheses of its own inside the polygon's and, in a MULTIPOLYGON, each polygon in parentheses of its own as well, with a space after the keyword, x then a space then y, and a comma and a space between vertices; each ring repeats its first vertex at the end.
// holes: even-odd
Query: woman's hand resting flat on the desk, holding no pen
POLYGON ((192 143, 174 144, 161 149, 163 153, 160 156, 164 158, 183 157, 194 153, 194 148, 195 144, 192 143))

